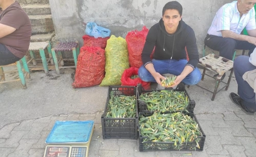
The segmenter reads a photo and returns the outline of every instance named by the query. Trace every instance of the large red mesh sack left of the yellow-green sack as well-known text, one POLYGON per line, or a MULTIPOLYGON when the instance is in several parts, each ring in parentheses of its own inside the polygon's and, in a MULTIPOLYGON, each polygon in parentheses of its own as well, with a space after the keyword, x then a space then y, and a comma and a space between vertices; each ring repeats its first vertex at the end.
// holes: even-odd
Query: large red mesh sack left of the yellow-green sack
POLYGON ((105 77, 105 50, 100 47, 81 47, 75 70, 74 88, 99 85, 105 77))

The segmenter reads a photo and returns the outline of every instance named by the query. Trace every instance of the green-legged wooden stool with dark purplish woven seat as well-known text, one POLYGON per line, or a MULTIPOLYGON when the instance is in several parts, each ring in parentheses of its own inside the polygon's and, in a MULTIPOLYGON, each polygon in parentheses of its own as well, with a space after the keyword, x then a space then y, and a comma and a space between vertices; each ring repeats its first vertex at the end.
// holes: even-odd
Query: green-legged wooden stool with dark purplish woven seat
POLYGON ((77 56, 79 55, 79 51, 80 51, 79 49, 80 48, 78 45, 78 41, 76 41, 76 42, 57 42, 56 47, 52 48, 53 61, 54 61, 54 65, 55 65, 57 74, 60 74, 59 69, 61 69, 61 68, 76 68, 77 56), (61 54, 62 51, 72 51, 74 59, 63 59, 62 54, 61 54), (58 52, 58 56, 60 59, 59 61, 56 57, 56 52, 58 52), (63 66, 64 60, 74 60, 75 66, 63 66), (62 65, 61 67, 59 67, 59 63, 62 65))

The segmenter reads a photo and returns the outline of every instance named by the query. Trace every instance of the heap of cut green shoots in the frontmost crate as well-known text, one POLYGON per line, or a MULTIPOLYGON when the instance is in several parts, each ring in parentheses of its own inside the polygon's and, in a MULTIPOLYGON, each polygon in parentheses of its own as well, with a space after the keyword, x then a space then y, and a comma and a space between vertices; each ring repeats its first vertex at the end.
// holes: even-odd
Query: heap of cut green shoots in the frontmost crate
MULTIPOLYGON (((181 149, 188 145, 191 149, 200 148, 198 138, 202 136, 199 130, 198 124, 189 115, 183 113, 168 113, 160 114, 155 112, 153 115, 144 117, 140 116, 139 119, 140 134, 144 137, 144 142, 147 143, 148 148, 154 146, 154 142, 171 142, 172 145, 169 147, 174 149, 181 149), (195 142, 195 143, 191 143, 195 142), (152 146, 151 146, 152 145, 152 146)), ((166 148, 168 147, 160 147, 166 148)))

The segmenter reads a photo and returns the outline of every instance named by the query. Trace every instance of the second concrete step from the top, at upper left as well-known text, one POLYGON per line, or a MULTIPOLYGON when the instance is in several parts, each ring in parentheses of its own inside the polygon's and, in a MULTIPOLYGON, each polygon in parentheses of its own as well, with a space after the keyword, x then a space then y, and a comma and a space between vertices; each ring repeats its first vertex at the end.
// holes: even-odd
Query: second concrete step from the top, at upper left
POLYGON ((50 5, 36 4, 22 6, 28 15, 51 15, 50 5))

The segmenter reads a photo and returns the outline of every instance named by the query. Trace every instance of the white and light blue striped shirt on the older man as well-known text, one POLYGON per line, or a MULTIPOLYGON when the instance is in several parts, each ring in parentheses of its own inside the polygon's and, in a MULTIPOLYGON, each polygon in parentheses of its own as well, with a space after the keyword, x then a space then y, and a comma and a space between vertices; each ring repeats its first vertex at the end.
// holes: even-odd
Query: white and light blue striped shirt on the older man
POLYGON ((243 29, 256 29, 255 10, 252 8, 247 14, 240 13, 237 9, 237 1, 225 4, 216 13, 208 34, 222 36, 221 30, 230 30, 240 34, 243 29))

